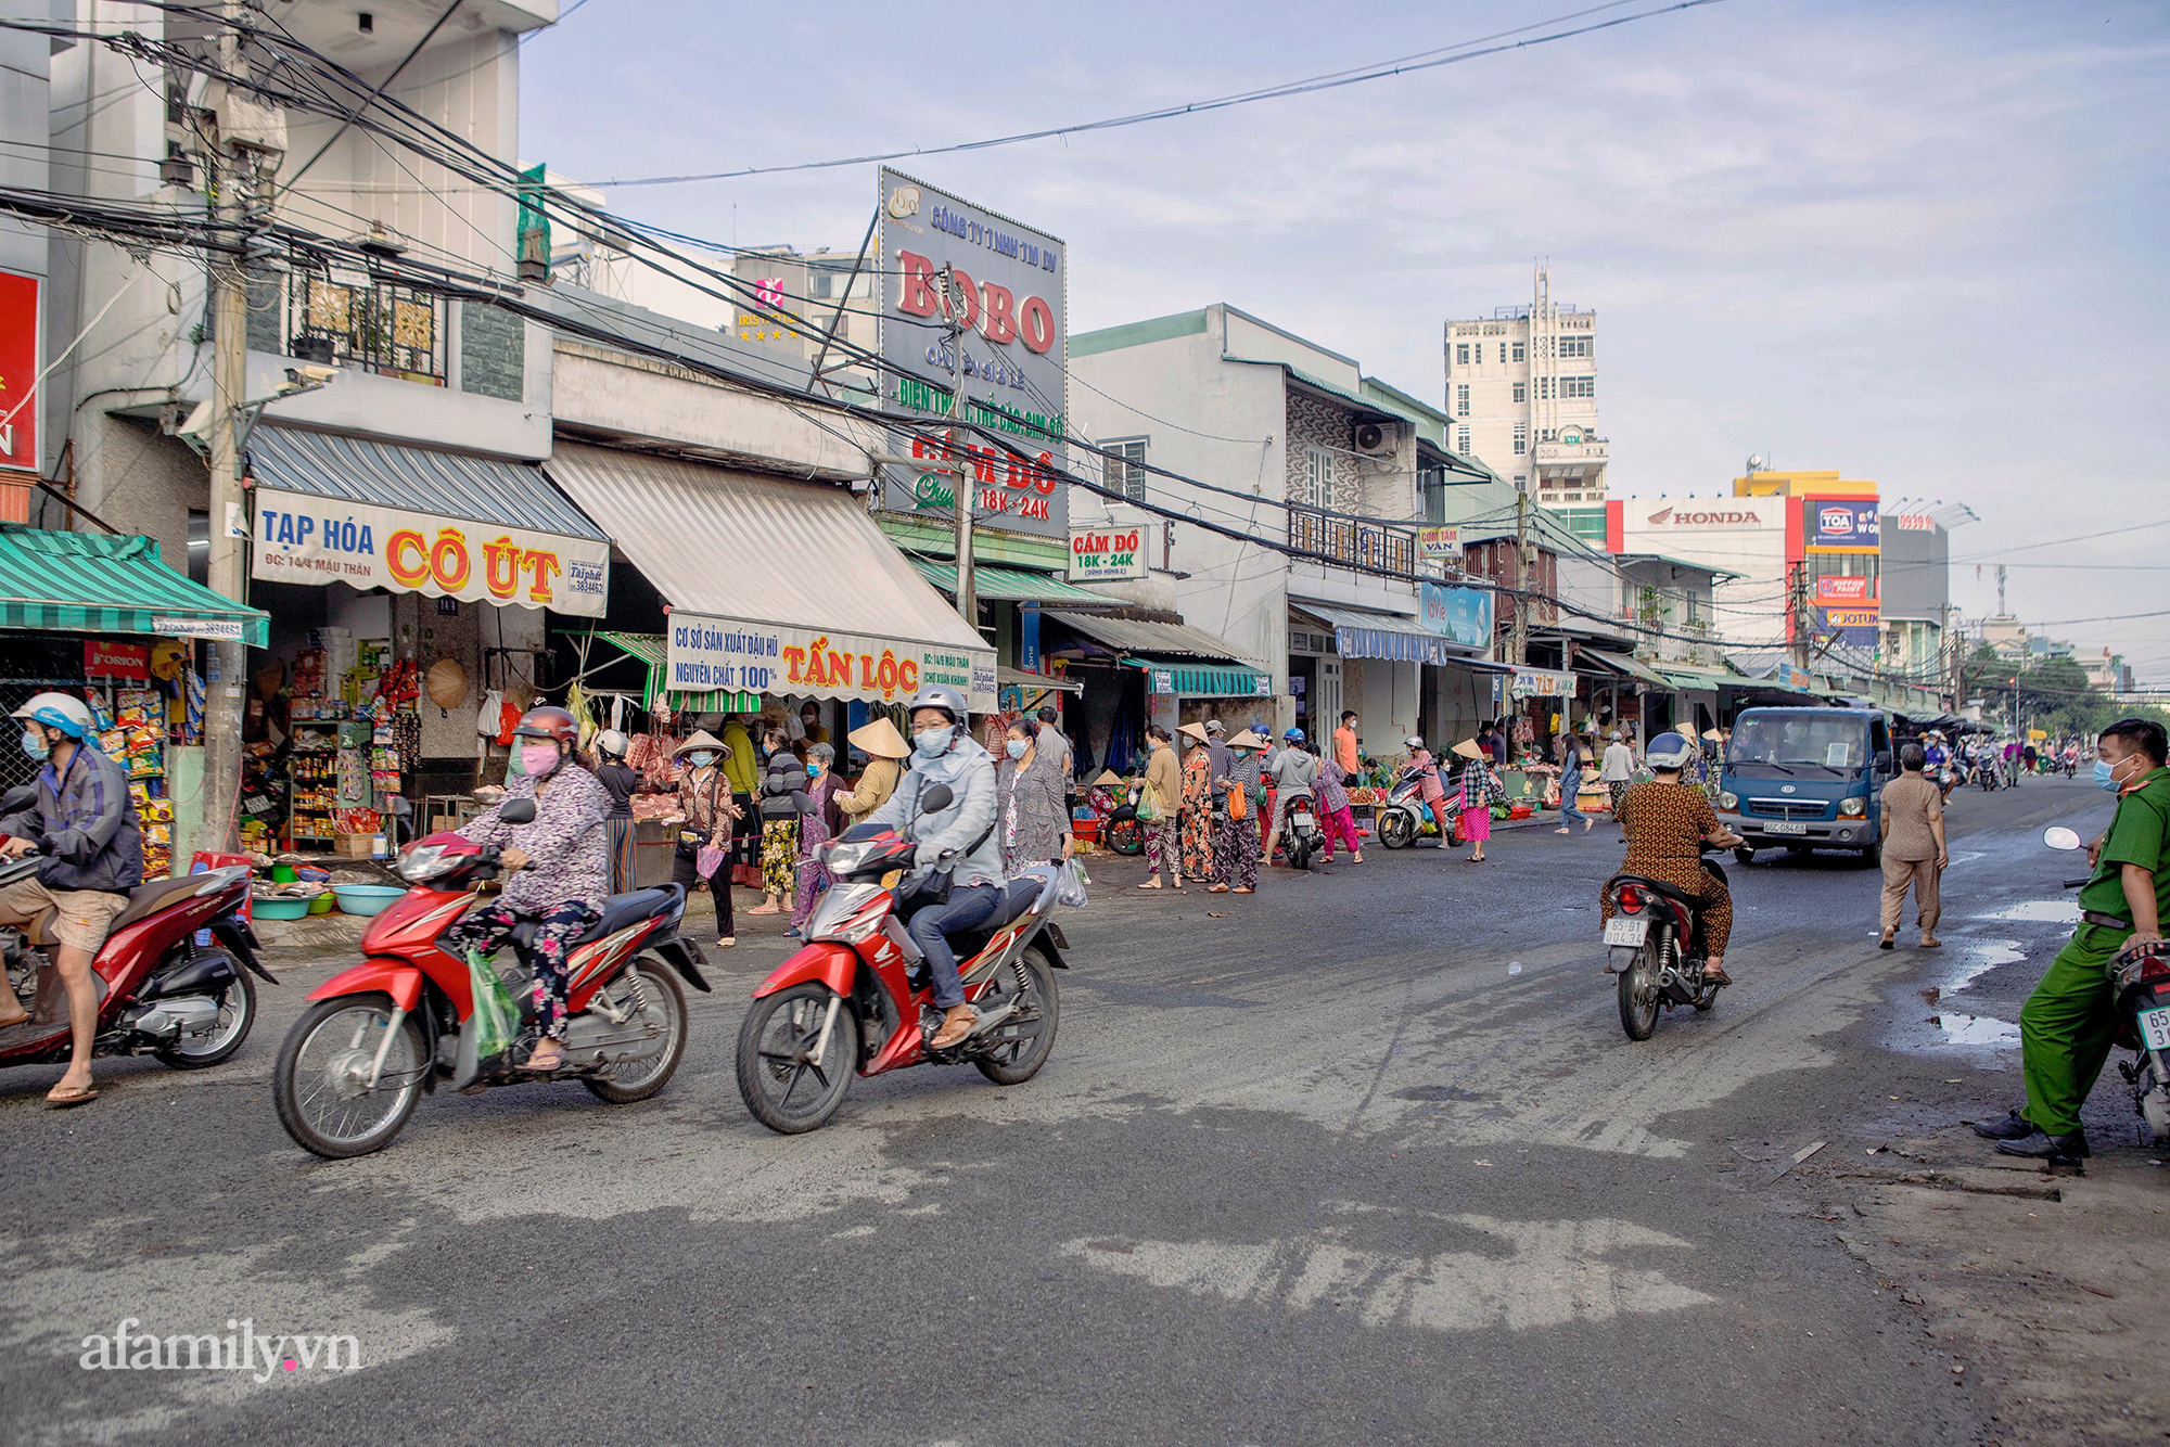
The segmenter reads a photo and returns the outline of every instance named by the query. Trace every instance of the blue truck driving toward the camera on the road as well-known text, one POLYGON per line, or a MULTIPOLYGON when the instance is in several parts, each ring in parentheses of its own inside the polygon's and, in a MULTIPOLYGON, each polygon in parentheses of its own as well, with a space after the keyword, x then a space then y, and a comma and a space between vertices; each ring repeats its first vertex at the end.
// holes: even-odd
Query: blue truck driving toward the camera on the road
POLYGON ((1899 768, 1890 718, 1879 709, 1773 707, 1745 709, 1734 720, 1719 766, 1719 814, 1745 844, 1860 850, 1884 861, 1877 801, 1899 768))

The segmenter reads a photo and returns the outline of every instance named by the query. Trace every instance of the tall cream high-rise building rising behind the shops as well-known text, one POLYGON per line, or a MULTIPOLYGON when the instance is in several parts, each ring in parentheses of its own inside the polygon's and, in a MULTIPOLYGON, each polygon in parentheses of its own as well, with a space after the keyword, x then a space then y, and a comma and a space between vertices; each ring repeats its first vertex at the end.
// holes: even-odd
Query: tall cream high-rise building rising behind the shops
POLYGON ((1606 438, 1597 432, 1597 312, 1552 299, 1536 269, 1528 306, 1450 321, 1450 445, 1510 477, 1545 508, 1606 501, 1606 438))

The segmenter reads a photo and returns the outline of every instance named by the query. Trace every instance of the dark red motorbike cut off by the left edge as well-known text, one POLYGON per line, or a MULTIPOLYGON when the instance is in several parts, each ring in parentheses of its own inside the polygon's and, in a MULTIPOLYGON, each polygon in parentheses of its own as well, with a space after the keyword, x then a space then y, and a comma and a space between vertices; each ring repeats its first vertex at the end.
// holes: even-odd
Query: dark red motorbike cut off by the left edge
MULTIPOLYGON (((37 805, 37 787, 0 798, 0 814, 37 805)), ((39 857, 0 866, 0 887, 37 876, 39 857)), ((128 892, 91 959, 98 998, 93 1054, 152 1054, 171 1070, 230 1059, 256 1024, 256 981, 278 981, 256 961, 256 931, 241 915, 250 872, 241 866, 152 879, 128 892), (202 944, 206 939, 208 944, 202 944), (252 978, 254 976, 254 978, 252 978)), ((7 985, 35 989, 30 1017, 0 1030, 0 1065, 52 1065, 74 1054, 67 987, 48 963, 56 909, 4 944, 7 985)))

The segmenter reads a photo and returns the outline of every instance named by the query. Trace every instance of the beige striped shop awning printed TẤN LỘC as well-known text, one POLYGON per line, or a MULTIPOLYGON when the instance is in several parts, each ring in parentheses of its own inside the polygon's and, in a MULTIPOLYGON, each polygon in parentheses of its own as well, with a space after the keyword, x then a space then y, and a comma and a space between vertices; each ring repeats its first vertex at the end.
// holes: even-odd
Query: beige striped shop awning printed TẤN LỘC
POLYGON ((664 688, 996 707, 994 649, 844 488, 564 443, 542 466, 671 605, 664 688))

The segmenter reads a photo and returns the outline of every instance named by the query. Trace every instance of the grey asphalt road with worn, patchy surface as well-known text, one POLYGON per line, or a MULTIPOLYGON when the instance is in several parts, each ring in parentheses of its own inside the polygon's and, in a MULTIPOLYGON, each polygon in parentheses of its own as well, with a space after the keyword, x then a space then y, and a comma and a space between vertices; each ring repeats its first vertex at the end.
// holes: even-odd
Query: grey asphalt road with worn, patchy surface
MULTIPOLYGON (((1964 794, 1933 955, 1875 950, 1849 857, 1734 868, 1738 985, 1647 1043, 1599 974, 1606 824, 1248 898, 1098 859, 1039 1078, 861 1080, 796 1139, 731 1078, 775 931, 655 1100, 436 1096, 349 1163, 273 1117, 341 963, 280 959, 224 1067, 104 1063, 72 1113, 56 1067, 0 1076, 0 1438, 1977 1440, 1983 1393, 1910 1360, 1918 1323, 1779 1171, 2016 1098, 1999 1026, 2072 872, 2035 840, 2107 814, 2085 781, 1964 794), (349 1334, 362 1367, 85 1371, 130 1317, 349 1334)), ((2129 1139, 2114 1089, 2094 1111, 2129 1139)))

